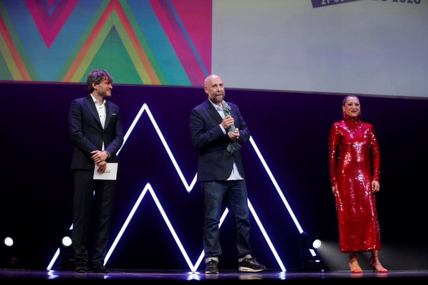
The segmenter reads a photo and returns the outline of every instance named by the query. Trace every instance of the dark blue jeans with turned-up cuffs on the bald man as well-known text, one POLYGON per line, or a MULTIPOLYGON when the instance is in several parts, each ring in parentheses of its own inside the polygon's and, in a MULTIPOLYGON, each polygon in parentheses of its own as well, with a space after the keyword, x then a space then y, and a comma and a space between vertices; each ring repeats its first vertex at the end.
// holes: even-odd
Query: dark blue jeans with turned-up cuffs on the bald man
POLYGON ((238 258, 250 254, 250 214, 245 180, 202 181, 201 188, 205 214, 205 258, 219 257, 221 255, 218 224, 220 223, 221 203, 223 201, 225 201, 235 224, 238 258))

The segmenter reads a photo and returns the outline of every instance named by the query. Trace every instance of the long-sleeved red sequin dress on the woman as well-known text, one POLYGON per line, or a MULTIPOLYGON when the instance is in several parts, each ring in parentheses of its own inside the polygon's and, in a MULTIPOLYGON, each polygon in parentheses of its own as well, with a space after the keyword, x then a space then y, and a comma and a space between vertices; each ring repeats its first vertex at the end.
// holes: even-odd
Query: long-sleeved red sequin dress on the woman
POLYGON ((380 249, 372 180, 379 181, 380 154, 373 126, 345 116, 330 131, 330 179, 336 186, 340 251, 380 249))

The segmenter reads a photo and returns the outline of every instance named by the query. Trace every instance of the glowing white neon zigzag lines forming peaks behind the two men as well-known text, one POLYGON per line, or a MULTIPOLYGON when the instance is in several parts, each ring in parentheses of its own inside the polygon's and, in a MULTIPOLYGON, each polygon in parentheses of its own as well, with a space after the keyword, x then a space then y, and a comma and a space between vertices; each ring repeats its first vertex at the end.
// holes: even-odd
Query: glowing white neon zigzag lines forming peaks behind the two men
MULTIPOLYGON (((158 133, 158 136, 159 136, 160 140, 162 141, 162 144, 165 147, 165 150, 168 153, 169 158, 171 159, 172 164, 175 167, 175 170, 177 171, 178 175, 180 176, 181 181, 183 182, 184 187, 186 187, 187 192, 190 193, 190 191, 193 189, 193 186, 196 183, 197 173, 196 173, 195 177, 193 178, 192 183, 190 183, 190 185, 187 184, 187 181, 185 180, 184 175, 181 172, 181 169, 178 166, 177 161, 175 160, 174 156, 172 155, 172 152, 169 149, 169 146, 166 143, 166 140, 163 137, 163 134, 160 131, 160 129, 158 127, 158 124, 156 123, 155 118, 153 117, 152 112, 150 112, 149 107, 147 106, 146 103, 144 103, 143 106, 140 108, 140 111, 138 112, 137 116, 135 117, 134 121, 132 122, 131 126, 129 127, 128 131, 126 132, 125 137, 124 137, 124 141, 123 141, 123 144, 122 144, 122 147, 117 152, 117 155, 119 155, 120 151, 122 150, 123 146, 125 145, 126 141, 128 140, 131 132, 133 131, 135 125, 137 124, 137 122, 140 119, 141 115, 143 114, 144 110, 146 110, 146 113, 149 116, 149 119, 152 122, 153 127, 155 128, 156 132, 158 133)), ((299 230, 299 232, 301 234, 303 232, 303 229, 300 226, 299 222, 297 221, 297 218, 295 217, 293 211, 291 210, 290 205, 288 204, 287 200, 285 199, 285 196, 282 193, 282 190, 279 188, 279 185, 276 182, 276 179, 273 177, 273 174, 270 171, 269 166, 267 165, 267 163, 266 163, 265 159, 263 158, 261 152, 259 151, 259 148, 257 147, 256 143, 254 142, 253 137, 250 137, 250 143, 251 143, 251 145, 253 145, 253 148, 256 151, 256 154, 259 156, 259 159, 262 162, 263 166, 265 167, 266 172, 268 172, 268 175, 269 175, 269 177, 270 177, 273 185, 275 186, 275 188, 276 188, 279 196, 281 197, 282 202, 284 203, 285 207, 287 208, 288 213, 290 214, 291 218, 294 221, 294 224, 296 225, 297 229, 299 230)), ((187 255, 187 252, 185 251, 183 245, 181 244, 181 241, 179 240, 177 234, 175 233, 174 228, 172 227, 171 223, 169 222, 169 219, 166 216, 165 211, 163 211, 163 208, 162 208, 162 206, 161 206, 161 204, 160 204, 160 202, 159 202, 159 200, 158 200, 158 198, 157 198, 154 190, 152 189, 152 186, 149 183, 147 183, 146 187, 144 187, 143 191, 140 194, 140 197, 137 199, 137 202, 135 203, 134 207, 132 208, 130 214, 128 215, 128 218, 125 220, 125 223, 123 224, 122 229, 119 231, 119 234, 116 236, 116 239, 114 240, 112 246, 110 247, 109 251, 107 252, 107 255, 106 255, 106 258, 105 258, 105 261, 104 261, 104 265, 107 264, 107 261, 109 260, 112 252, 116 248, 117 243, 119 242, 120 238, 122 237, 123 233, 125 232, 126 227, 128 226, 129 222, 131 221, 132 217, 134 216, 135 211, 137 210, 138 206, 140 205, 140 202, 142 201, 144 195, 146 194, 146 192, 148 190, 149 190, 150 194, 152 195, 152 198, 154 199, 156 205, 158 206, 160 214, 162 215, 163 219, 165 220, 165 223, 168 226, 169 231, 171 232, 172 236, 174 237, 175 242, 177 243, 177 245, 178 245, 181 253, 184 256, 184 259, 186 260, 188 266, 190 267, 190 270, 196 271, 197 268, 199 267, 199 264, 202 262, 202 258, 204 256, 204 251, 202 251, 201 255, 199 255, 199 258, 196 261, 196 264, 193 265, 192 262, 190 261, 190 258, 187 255)), ((281 268, 282 271, 285 272, 284 264, 282 263, 281 259, 279 258, 279 255, 276 252, 276 249, 274 248, 272 242, 270 241, 270 238, 268 237, 267 232, 265 231, 265 229, 264 229, 261 221, 259 220, 259 217, 257 216, 256 211, 254 210, 253 205, 251 204, 250 200, 248 200, 248 207, 249 207, 251 213, 253 214, 253 217, 256 220, 256 223, 259 226, 259 228, 260 228, 263 236, 265 237, 266 241, 268 242, 268 245, 269 245, 270 249, 272 250, 273 255, 275 256, 276 261, 279 264, 279 267, 281 268)), ((226 208, 226 210, 223 212, 223 215, 222 215, 222 217, 220 219, 219 228, 222 225, 224 219, 226 218, 226 215, 227 215, 228 212, 229 211, 226 208)), ((71 225, 70 229, 72 229, 72 226, 73 225, 71 225)), ((51 268, 52 268, 53 264, 55 263, 56 259, 58 258, 58 256, 59 256, 59 248, 57 249, 55 255, 53 256, 51 262, 49 263, 49 265, 47 267, 47 270, 51 270, 51 268)))

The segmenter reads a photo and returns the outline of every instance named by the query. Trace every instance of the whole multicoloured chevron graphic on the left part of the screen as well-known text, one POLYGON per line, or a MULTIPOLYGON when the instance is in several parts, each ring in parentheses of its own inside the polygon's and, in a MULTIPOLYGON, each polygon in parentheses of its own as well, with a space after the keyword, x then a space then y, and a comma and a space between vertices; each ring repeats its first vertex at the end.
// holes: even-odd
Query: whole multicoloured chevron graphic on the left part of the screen
POLYGON ((211 0, 0 1, 0 81, 201 86, 211 72, 211 0))

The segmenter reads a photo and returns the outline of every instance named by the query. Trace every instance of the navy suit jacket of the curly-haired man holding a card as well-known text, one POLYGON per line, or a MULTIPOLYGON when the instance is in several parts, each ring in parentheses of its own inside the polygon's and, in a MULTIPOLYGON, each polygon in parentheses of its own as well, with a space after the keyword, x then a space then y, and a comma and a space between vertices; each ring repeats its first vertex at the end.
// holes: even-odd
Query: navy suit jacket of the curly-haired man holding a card
POLYGON ((104 129, 91 95, 71 102, 68 114, 68 131, 74 143, 71 169, 94 169, 91 151, 104 149, 110 153, 107 163, 117 162, 116 152, 123 143, 122 120, 119 107, 105 101, 104 129))

